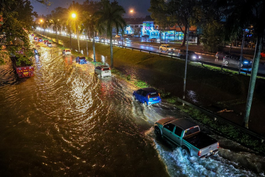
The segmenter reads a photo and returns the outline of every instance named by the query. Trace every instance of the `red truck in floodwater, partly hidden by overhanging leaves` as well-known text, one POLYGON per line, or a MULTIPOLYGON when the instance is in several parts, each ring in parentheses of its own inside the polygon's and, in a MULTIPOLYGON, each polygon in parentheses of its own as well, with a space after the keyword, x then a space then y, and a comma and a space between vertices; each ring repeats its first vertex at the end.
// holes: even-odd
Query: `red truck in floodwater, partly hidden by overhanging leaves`
MULTIPOLYGON (((23 51, 16 51, 16 53, 23 55, 23 51)), ((21 61, 20 65, 16 65, 16 61, 17 61, 16 56, 11 55, 10 58, 11 58, 14 70, 18 74, 19 78, 34 76, 34 73, 33 73, 34 67, 32 66, 32 62, 30 62, 30 64, 26 64, 24 61, 21 61)))

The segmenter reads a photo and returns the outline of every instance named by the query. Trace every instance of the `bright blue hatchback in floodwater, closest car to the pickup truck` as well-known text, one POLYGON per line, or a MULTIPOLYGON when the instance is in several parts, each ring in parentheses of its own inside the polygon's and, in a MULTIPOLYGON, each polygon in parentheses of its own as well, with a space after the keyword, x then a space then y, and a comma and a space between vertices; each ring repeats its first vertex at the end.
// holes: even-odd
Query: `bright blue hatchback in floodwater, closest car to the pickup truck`
POLYGON ((143 88, 133 91, 132 97, 134 100, 138 100, 144 103, 145 106, 155 103, 161 103, 160 94, 153 88, 143 88))

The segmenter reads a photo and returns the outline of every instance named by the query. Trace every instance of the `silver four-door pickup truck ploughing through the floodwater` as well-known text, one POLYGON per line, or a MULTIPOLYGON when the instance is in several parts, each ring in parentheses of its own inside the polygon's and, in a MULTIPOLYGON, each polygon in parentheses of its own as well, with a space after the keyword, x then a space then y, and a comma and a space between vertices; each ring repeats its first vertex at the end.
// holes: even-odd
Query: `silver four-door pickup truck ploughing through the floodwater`
POLYGON ((204 160, 218 153, 218 141, 201 132, 198 125, 184 118, 158 120, 155 122, 155 135, 180 146, 186 158, 195 156, 204 160))

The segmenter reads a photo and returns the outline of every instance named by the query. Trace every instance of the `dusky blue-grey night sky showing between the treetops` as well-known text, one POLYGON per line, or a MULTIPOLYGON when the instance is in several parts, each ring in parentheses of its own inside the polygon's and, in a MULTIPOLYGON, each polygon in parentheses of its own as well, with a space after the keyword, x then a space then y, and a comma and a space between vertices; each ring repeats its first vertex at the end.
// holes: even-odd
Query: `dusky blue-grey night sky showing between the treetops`
MULTIPOLYGON (((34 7, 33 11, 36 11, 39 15, 46 15, 50 14, 52 10, 54 10, 56 7, 64 7, 68 8, 68 4, 71 4, 73 0, 50 0, 52 2, 52 5, 48 7, 37 3, 32 2, 32 6, 34 7)), ((78 2, 79 4, 83 4, 85 0, 75 0, 75 2, 78 2)), ((99 0, 94 0, 99 1, 99 0)), ((113 0, 110 0, 113 1, 113 0)), ((133 16, 136 17, 145 17, 146 15, 150 15, 150 13, 147 11, 150 7, 150 0, 117 0, 119 5, 123 6, 123 8, 126 11, 125 18, 132 17, 132 14, 129 13, 130 9, 133 9, 135 11, 135 14, 133 16)))

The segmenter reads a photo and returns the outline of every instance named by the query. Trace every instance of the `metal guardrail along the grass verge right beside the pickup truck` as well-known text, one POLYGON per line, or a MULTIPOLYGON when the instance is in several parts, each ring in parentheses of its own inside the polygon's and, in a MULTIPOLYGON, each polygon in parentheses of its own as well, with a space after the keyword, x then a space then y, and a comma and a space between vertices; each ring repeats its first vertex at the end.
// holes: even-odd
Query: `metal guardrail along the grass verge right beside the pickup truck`
POLYGON ((230 125, 232 125, 232 126, 238 128, 238 129, 240 129, 240 130, 242 130, 242 131, 244 131, 244 132, 246 132, 246 133, 248 133, 248 134, 250 134, 250 135, 252 135, 252 136, 254 136, 254 137, 257 137, 257 138, 261 139, 261 142, 264 142, 264 140, 265 140, 265 136, 260 135, 260 134, 258 134, 258 133, 256 133, 256 132, 253 132, 253 131, 251 131, 251 130, 245 128, 245 127, 242 127, 242 126, 240 126, 240 125, 238 125, 238 124, 236 124, 236 123, 234 123, 234 122, 232 122, 232 121, 230 121, 230 120, 227 120, 227 119, 225 119, 225 118, 223 118, 223 117, 221 117, 221 116, 218 116, 218 115, 214 114, 213 112, 211 112, 211 111, 209 111, 209 110, 207 110, 207 109, 204 109, 204 108, 202 108, 202 107, 199 107, 199 106, 196 106, 196 105, 194 105, 194 104, 191 104, 191 103, 189 103, 188 101, 184 101, 184 100, 182 100, 182 99, 180 99, 180 98, 178 98, 178 101, 180 101, 180 102, 182 102, 182 103, 184 103, 184 104, 187 104, 188 106, 191 106, 191 107, 194 107, 194 108, 200 110, 201 112, 203 112, 203 113, 205 113, 205 114, 207 114, 207 115, 213 117, 214 120, 219 119, 219 120, 221 120, 222 122, 225 122, 225 123, 227 123, 227 124, 230 124, 230 125))

